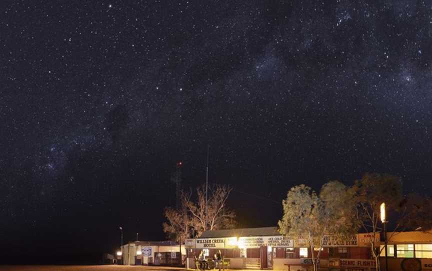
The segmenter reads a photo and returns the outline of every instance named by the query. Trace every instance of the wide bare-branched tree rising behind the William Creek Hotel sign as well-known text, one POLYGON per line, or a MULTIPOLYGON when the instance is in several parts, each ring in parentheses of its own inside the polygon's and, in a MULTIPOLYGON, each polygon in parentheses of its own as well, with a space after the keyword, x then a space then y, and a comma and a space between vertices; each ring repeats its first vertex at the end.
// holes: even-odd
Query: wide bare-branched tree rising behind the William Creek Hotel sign
POLYGON ((214 184, 209 187, 208 199, 205 198, 205 187, 196 188, 196 202, 185 201, 191 214, 191 223, 197 236, 205 230, 233 228, 235 213, 226 206, 226 200, 232 188, 227 185, 214 184))

